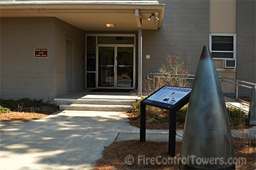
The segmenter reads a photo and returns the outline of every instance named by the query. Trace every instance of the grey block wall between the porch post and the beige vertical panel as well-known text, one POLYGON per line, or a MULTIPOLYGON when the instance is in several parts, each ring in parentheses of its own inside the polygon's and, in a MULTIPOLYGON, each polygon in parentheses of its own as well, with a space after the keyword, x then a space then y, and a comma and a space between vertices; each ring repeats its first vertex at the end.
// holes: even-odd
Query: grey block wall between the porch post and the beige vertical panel
POLYGON ((209 43, 209 1, 169 1, 165 4, 162 28, 143 30, 143 76, 158 72, 167 53, 181 58, 195 73, 200 53, 209 43), (146 59, 146 55, 151 55, 146 59))

